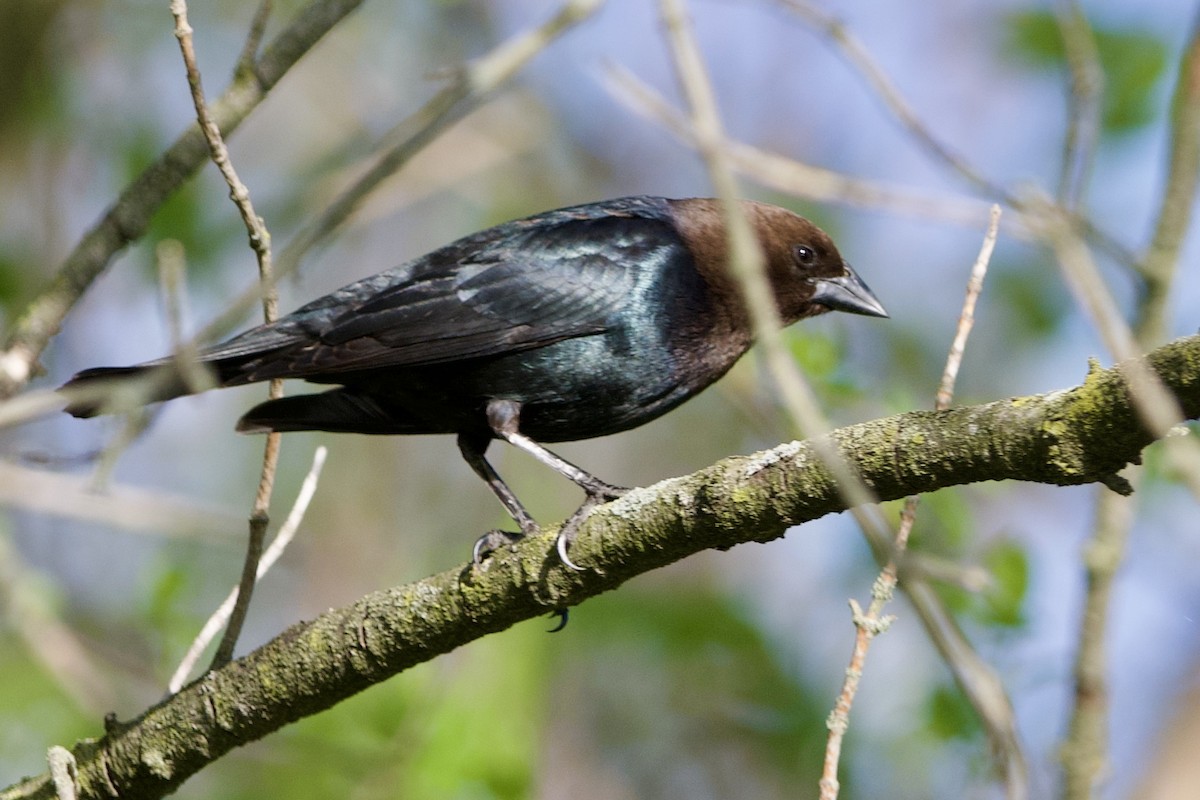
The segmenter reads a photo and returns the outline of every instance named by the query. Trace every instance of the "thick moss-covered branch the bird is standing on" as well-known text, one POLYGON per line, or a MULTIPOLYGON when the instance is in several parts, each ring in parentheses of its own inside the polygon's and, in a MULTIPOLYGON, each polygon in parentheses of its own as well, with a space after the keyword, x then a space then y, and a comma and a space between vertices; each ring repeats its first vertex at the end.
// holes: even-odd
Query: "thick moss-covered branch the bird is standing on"
MULTIPOLYGON (((1200 415, 1200 336, 1142 365, 1200 415)), ((1153 435, 1129 401, 1128 365, 1092 368, 1066 391, 911 411, 834 432, 834 446, 884 500, 995 480, 1079 485, 1110 477, 1153 435), (920 446, 901 446, 920 443, 920 446)), ((161 798, 234 747, 332 706, 398 672, 550 609, 574 606, 703 549, 770 541, 845 509, 814 443, 727 458, 600 506, 564 567, 554 530, 294 625, 104 736, 79 742, 79 796, 161 798)), ((49 775, 0 800, 53 798, 49 775)))

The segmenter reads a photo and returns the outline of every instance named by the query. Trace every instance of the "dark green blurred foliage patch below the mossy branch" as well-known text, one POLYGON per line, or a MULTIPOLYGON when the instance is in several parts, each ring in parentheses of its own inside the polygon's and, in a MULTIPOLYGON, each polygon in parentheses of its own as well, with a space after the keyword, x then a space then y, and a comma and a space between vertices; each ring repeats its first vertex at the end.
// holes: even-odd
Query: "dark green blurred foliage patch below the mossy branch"
POLYGON ((704 796, 816 786, 829 699, 724 593, 626 588, 582 606, 571 625, 556 672, 580 735, 629 796, 682 796, 689 781, 704 796))

